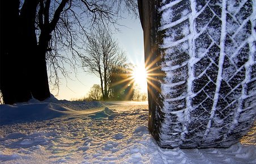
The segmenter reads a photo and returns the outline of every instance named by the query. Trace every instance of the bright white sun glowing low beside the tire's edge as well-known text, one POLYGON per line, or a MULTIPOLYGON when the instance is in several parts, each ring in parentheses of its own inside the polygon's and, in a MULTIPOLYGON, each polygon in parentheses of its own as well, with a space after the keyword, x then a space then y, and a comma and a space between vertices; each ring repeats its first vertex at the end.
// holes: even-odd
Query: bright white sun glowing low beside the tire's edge
POLYGON ((131 72, 131 76, 134 79, 134 84, 137 84, 142 92, 147 92, 147 78, 148 72, 143 66, 136 66, 131 72))

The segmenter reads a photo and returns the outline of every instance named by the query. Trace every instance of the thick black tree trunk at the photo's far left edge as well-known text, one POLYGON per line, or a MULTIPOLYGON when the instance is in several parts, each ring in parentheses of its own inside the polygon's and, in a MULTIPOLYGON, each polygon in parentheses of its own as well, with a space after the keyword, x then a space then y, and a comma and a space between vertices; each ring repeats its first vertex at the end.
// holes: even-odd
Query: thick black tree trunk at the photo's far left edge
MULTIPOLYGON (((28 101, 31 93, 27 81, 28 58, 21 53, 19 1, 1 1, 1 69, 0 89, 6 104, 28 101)), ((23 40, 22 42, 26 42, 23 40)))

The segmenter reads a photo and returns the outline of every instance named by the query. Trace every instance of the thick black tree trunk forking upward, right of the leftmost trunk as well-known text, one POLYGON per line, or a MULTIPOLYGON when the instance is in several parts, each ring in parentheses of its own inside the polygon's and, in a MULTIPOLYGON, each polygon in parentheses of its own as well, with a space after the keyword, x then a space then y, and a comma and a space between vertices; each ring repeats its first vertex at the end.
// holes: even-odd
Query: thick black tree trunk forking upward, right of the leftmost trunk
POLYGON ((29 87, 31 94, 37 100, 45 100, 50 97, 50 90, 48 84, 48 74, 45 62, 46 48, 49 42, 48 33, 41 31, 39 38, 39 45, 37 46, 37 39, 35 33, 35 18, 36 7, 39 1, 25 1, 20 13, 22 25, 22 38, 26 40, 23 42, 24 56, 30 59, 28 66, 29 72, 29 87), (43 36, 43 37, 41 37, 43 36))

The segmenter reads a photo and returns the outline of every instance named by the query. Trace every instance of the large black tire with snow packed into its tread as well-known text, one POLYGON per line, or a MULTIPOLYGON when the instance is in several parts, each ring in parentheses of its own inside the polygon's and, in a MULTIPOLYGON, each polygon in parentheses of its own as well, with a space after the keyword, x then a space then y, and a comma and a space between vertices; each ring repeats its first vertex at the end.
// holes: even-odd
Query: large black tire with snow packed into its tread
POLYGON ((146 64, 157 61, 151 67, 159 67, 148 83, 149 128, 157 143, 165 148, 237 143, 256 115, 256 1, 149 5, 157 13, 148 19, 151 38, 145 37, 145 12, 140 16, 144 39, 151 40, 146 64))

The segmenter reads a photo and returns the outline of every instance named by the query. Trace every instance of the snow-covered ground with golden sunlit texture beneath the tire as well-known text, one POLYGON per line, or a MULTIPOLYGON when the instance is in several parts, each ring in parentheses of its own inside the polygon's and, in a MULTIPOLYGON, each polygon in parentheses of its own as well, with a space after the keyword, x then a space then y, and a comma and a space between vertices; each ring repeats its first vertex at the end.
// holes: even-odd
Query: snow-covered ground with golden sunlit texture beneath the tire
POLYGON ((255 127, 227 149, 162 149, 147 108, 54 98, 0 105, 0 163, 256 163, 255 127))

